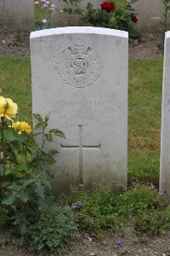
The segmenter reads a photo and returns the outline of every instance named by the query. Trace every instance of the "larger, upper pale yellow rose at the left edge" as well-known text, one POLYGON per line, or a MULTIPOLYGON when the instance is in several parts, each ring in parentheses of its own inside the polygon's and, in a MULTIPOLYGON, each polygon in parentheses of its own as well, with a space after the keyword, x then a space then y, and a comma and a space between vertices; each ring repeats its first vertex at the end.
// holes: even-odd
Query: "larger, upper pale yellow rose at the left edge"
POLYGON ((1 117, 5 117, 6 119, 13 121, 17 112, 18 106, 16 103, 9 98, 0 96, 0 119, 1 117))

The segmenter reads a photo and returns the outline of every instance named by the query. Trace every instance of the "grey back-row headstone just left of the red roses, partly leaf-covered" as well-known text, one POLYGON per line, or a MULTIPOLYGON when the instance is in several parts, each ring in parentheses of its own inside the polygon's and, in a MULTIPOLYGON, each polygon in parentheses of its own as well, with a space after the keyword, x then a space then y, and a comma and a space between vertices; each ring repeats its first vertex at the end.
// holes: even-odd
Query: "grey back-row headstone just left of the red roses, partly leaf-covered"
MULTIPOLYGON (((93 3, 94 9, 99 8, 101 0, 83 0, 77 3, 78 9, 86 9, 88 3, 93 3)), ((70 15, 65 13, 63 9, 74 9, 74 5, 65 3, 63 0, 52 0, 52 4, 56 6, 56 9, 52 15, 53 26, 80 26, 83 25, 83 18, 81 15, 70 15)))

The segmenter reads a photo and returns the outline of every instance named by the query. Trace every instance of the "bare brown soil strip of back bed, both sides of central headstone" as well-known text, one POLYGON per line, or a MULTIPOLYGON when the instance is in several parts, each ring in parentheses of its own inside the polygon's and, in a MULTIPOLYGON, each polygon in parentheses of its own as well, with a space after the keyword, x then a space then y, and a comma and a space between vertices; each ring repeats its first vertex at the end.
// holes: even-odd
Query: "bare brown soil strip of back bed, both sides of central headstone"
MULTIPOLYGON (((30 32, 0 30, 0 55, 30 55, 30 32)), ((162 38, 145 34, 129 44, 130 59, 158 58, 162 56, 162 38)))

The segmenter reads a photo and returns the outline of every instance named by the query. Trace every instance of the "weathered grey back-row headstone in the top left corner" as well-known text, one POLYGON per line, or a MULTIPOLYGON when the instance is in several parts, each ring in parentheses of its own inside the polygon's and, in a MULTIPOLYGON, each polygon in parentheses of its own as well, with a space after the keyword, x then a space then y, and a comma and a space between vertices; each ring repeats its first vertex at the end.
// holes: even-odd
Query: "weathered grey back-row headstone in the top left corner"
POLYGON ((31 31, 33 26, 33 0, 0 0, 0 28, 31 31))

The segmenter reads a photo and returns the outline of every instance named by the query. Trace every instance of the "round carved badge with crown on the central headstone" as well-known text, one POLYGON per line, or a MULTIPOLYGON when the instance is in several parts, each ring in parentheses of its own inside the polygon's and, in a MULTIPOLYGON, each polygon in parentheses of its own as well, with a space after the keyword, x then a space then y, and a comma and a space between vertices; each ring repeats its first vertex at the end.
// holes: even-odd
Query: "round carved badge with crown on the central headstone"
POLYGON ((66 84, 76 88, 88 87, 99 79, 102 61, 94 49, 77 41, 59 55, 57 71, 66 84))

